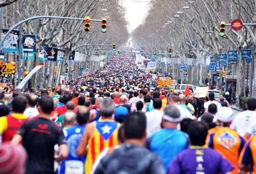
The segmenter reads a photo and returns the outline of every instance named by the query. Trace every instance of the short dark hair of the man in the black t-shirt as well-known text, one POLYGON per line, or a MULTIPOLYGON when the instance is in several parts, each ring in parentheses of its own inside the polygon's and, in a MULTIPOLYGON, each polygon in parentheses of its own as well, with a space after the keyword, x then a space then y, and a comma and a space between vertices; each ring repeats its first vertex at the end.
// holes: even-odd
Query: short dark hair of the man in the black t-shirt
POLYGON ((38 100, 42 113, 51 114, 54 108, 53 99, 50 96, 44 95, 38 100))

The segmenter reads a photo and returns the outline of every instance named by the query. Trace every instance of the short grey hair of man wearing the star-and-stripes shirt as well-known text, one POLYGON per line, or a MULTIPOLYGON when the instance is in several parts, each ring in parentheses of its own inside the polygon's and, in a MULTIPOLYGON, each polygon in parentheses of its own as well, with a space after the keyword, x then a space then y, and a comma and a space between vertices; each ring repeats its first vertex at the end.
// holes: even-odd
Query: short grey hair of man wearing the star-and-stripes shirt
POLYGON ((110 98, 104 98, 99 106, 100 115, 111 117, 115 112, 115 103, 110 98))

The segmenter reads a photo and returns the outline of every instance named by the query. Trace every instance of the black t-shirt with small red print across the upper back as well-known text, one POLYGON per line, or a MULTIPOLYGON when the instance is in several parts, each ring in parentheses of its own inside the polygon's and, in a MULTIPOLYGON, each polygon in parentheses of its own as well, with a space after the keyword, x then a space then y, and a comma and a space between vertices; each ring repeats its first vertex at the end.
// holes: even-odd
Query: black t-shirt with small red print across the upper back
POLYGON ((25 121, 17 133, 28 153, 26 173, 54 173, 54 145, 66 144, 60 127, 49 119, 37 117, 25 121))

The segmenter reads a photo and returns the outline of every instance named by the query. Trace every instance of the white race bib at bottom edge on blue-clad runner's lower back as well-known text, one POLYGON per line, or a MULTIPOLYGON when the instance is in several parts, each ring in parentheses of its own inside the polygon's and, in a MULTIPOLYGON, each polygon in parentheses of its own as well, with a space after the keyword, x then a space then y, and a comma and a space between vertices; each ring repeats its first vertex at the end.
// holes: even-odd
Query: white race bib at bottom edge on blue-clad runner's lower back
POLYGON ((66 161, 65 173, 66 174, 83 174, 83 163, 81 161, 66 161))

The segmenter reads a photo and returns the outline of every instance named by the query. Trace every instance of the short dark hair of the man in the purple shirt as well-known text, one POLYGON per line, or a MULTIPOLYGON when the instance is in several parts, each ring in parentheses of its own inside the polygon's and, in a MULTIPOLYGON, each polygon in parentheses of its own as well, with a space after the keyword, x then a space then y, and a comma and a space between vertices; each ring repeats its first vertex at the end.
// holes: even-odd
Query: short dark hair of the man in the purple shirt
POLYGON ((194 121, 188 126, 191 145, 203 146, 208 135, 208 126, 204 122, 194 121))

